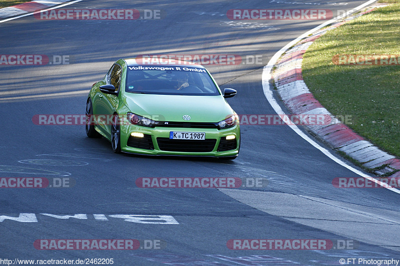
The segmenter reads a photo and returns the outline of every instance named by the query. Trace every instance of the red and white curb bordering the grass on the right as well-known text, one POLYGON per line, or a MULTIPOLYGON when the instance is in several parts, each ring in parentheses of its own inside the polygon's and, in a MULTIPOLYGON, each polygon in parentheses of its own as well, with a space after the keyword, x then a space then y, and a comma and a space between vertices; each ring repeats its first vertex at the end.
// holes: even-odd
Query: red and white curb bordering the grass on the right
MULTIPOLYGON (((359 13, 347 20, 363 15, 359 13)), ((312 42, 326 31, 334 29, 345 21, 335 23, 327 28, 316 31, 311 36, 300 40, 295 46, 276 62, 273 79, 277 91, 286 107, 295 114, 324 114, 335 119, 329 125, 307 126, 318 137, 325 140, 333 148, 338 149, 368 169, 378 168, 374 173, 383 175, 400 170, 400 160, 373 146, 370 142, 354 133, 349 127, 333 117, 310 93, 301 74, 302 56, 312 42), (383 167, 386 165, 385 167, 383 167), (380 168, 380 169, 379 169, 380 168)), ((400 171, 390 177, 400 177, 400 171)))

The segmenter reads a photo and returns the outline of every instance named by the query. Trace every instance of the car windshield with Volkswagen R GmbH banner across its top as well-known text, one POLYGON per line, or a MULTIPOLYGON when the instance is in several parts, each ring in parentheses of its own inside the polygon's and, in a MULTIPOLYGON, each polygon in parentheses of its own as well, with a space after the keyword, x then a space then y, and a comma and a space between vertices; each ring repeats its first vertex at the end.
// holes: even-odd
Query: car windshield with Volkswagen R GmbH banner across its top
POLYGON ((144 94, 220 95, 204 68, 128 66, 125 91, 144 94))

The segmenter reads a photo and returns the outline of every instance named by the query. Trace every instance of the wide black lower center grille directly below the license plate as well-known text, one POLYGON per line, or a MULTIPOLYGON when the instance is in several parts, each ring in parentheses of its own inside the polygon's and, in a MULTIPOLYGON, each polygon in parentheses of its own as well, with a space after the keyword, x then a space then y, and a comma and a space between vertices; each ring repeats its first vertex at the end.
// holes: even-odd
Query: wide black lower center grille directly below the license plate
POLYGON ((182 139, 157 138, 157 143, 161 151, 211 152, 215 147, 216 139, 182 140, 182 139))

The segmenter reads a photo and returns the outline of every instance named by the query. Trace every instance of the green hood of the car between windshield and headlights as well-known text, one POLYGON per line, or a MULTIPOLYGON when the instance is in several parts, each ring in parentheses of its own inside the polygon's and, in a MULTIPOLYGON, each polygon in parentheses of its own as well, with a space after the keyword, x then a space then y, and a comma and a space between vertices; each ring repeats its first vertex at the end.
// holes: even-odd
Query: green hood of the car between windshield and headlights
POLYGON ((184 122, 219 122, 234 114, 225 99, 218 96, 133 94, 125 96, 125 104, 135 114, 157 120, 184 122))

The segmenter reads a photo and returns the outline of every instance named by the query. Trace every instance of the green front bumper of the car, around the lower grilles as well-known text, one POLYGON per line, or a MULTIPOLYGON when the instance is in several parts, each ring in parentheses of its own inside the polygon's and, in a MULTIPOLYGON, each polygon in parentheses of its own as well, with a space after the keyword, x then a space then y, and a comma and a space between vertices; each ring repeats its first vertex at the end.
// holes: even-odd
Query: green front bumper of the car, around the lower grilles
POLYGON ((239 152, 239 125, 227 129, 215 128, 182 128, 128 125, 121 127, 121 151, 146 155, 178 155, 178 156, 236 156, 239 152), (170 140, 169 132, 204 132, 205 140, 170 140), (130 133, 137 132, 143 138, 132 137, 130 133), (233 140, 226 136, 234 135, 233 140))

